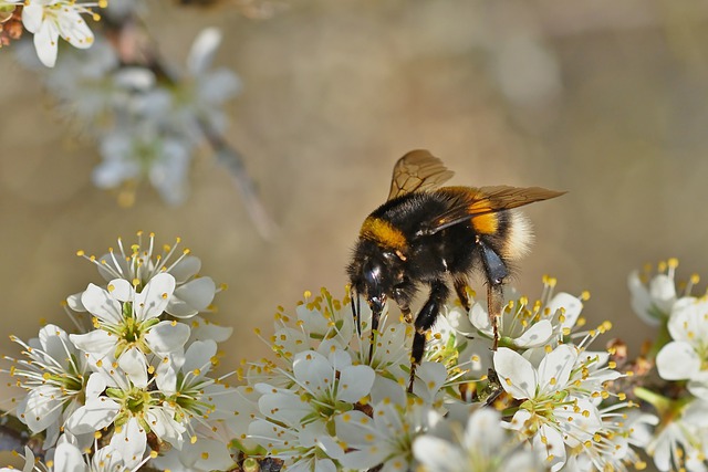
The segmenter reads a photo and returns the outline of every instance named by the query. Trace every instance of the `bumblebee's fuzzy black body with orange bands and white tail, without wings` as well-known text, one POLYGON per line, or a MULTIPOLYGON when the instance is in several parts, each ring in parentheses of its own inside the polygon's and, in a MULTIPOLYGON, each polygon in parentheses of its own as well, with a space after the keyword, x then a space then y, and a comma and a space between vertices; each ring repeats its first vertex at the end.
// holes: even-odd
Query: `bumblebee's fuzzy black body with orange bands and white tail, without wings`
MULTIPOLYGON (((426 233, 426 225, 435 216, 469 193, 477 193, 477 190, 444 187, 385 202, 364 221, 353 260, 389 260, 389 276, 383 277, 381 283, 387 286, 384 291, 391 292, 398 304, 409 303, 419 283, 468 276, 483 270, 482 247, 491 249, 510 265, 525 252, 532 238, 525 218, 518 211, 470 218, 438 232, 426 233)), ((350 266, 351 276, 355 276, 357 265, 355 262, 350 266)))

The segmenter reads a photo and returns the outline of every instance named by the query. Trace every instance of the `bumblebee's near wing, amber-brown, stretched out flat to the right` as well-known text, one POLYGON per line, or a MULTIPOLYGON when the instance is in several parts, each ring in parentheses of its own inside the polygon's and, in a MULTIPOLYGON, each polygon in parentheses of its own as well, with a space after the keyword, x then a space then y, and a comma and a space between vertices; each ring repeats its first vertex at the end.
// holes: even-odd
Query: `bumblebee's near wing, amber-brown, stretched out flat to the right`
POLYGON ((454 224, 469 221, 480 214, 522 207, 534 201, 560 197, 564 191, 549 190, 541 187, 480 187, 468 188, 455 197, 455 202, 445 212, 437 214, 423 228, 419 234, 435 234, 454 224))

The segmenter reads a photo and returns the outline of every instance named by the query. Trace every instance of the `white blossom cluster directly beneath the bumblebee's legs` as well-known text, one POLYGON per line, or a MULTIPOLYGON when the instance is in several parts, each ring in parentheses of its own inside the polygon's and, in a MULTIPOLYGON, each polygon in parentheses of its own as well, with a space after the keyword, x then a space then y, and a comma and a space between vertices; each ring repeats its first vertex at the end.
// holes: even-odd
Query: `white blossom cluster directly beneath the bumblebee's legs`
POLYGON ((581 331, 587 294, 554 294, 554 285, 546 277, 533 304, 508 291, 496 353, 486 301, 470 293, 469 312, 448 304, 412 388, 412 327, 393 305, 372 333, 361 301, 360 334, 350 300, 305 293, 294 313, 275 315, 274 334, 264 339, 274 358, 247 361, 240 371, 249 403, 242 450, 303 471, 639 463, 624 427, 631 403, 610 389, 622 374, 610 353, 589 349, 608 323, 581 331), (490 424, 485 434, 497 432, 480 439, 479 423, 490 424))

